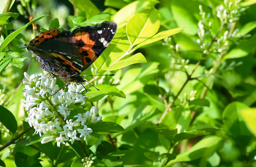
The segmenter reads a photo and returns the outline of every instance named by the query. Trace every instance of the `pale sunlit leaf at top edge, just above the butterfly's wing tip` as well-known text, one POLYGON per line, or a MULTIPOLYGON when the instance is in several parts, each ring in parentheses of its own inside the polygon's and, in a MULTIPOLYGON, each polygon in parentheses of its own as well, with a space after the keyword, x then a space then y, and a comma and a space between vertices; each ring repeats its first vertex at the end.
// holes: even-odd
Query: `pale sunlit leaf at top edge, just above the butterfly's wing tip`
POLYGON ((114 16, 113 21, 117 23, 118 28, 126 25, 126 23, 138 12, 153 7, 159 3, 156 0, 138 0, 134 1, 122 9, 120 9, 114 16), (122 16, 122 17, 120 17, 122 16))

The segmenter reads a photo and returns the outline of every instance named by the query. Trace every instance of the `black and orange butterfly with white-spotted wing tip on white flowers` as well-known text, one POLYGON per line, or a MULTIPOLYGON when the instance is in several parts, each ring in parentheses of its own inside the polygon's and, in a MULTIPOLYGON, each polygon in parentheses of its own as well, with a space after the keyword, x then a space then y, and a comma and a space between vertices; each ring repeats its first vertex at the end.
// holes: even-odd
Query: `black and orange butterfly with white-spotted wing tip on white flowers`
POLYGON ((106 49, 113 39, 117 25, 104 21, 99 25, 79 27, 72 32, 52 28, 41 32, 28 45, 43 70, 65 82, 86 82, 79 76, 106 49))

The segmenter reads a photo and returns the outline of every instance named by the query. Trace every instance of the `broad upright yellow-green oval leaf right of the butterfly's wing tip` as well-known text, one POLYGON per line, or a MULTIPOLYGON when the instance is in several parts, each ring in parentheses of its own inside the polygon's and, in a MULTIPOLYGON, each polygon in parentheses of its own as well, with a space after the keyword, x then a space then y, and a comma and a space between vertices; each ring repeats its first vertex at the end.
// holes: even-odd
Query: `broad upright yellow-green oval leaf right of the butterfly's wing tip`
POLYGON ((153 7, 134 15, 126 24, 130 48, 155 35, 160 27, 160 14, 153 7))

